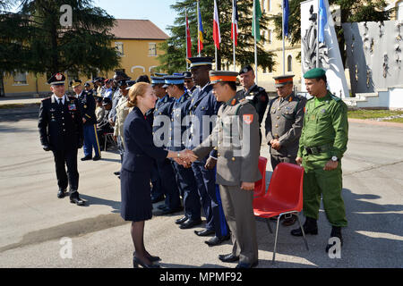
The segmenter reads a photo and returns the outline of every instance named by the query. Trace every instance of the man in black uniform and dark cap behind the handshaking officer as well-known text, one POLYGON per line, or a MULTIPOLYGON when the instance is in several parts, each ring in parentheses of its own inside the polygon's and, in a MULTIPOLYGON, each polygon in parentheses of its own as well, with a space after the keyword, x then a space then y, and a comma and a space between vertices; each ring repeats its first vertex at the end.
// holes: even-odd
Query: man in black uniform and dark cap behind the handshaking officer
MULTIPOLYGON (((254 82, 256 78, 253 68, 250 65, 245 66, 239 71, 239 79, 243 88, 237 92, 239 98, 245 98, 250 101, 251 105, 256 108, 259 115, 259 126, 262 127, 264 113, 266 112, 267 105, 269 104, 269 97, 267 96, 264 88, 258 87, 254 82)), ((262 131, 260 134, 260 142, 262 144, 262 131)))

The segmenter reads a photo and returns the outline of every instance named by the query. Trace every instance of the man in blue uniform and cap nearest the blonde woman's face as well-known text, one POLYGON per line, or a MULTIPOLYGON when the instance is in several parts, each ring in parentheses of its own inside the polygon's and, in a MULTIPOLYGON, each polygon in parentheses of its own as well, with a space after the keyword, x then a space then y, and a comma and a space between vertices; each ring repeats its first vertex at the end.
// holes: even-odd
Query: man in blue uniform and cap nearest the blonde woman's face
MULTIPOLYGON (((169 97, 165 85, 164 76, 167 74, 156 73, 151 76, 151 86, 154 89, 155 95, 159 97, 153 111, 153 124, 152 134, 154 136, 154 143, 160 147, 167 147, 169 143, 168 132, 160 132, 170 126, 170 116, 172 112, 172 105, 176 100, 175 97, 169 97), (167 135, 167 136, 165 136, 167 135)), ((154 200, 159 196, 165 195, 165 204, 160 205, 160 211, 156 215, 174 214, 181 211, 181 199, 179 197, 179 189, 176 183, 176 172, 171 164, 171 160, 165 159, 157 162, 157 170, 160 180, 160 194, 154 193, 154 200)), ((154 189, 157 192, 157 189, 154 189)), ((151 199, 153 199, 151 197, 151 199)))

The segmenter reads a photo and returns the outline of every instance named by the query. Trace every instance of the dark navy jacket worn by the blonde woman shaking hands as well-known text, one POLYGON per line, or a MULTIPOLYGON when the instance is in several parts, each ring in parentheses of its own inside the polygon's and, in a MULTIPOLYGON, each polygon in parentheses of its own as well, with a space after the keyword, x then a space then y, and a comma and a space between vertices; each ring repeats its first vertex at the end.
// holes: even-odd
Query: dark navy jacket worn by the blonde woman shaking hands
POLYGON ((124 160, 122 169, 130 172, 151 172, 152 159, 163 161, 167 150, 155 147, 150 123, 138 107, 124 121, 124 160))

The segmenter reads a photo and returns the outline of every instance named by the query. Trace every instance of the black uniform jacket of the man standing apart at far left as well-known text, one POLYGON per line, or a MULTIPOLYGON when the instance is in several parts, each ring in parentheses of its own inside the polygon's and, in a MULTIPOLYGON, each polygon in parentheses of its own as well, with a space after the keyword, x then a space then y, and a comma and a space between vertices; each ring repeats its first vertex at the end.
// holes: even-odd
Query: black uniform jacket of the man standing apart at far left
POLYGON ((81 147, 83 140, 80 105, 75 97, 65 97, 60 106, 53 97, 42 100, 39 108, 40 143, 52 150, 81 147))

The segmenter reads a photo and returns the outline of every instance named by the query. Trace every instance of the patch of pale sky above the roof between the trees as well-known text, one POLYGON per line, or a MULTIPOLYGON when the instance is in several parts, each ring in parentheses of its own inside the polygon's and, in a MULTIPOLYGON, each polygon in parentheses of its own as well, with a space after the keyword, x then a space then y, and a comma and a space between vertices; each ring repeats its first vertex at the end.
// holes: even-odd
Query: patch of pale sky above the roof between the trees
POLYGON ((167 26, 174 25, 176 12, 170 8, 176 0, 93 0, 116 19, 150 20, 169 35, 167 26))

